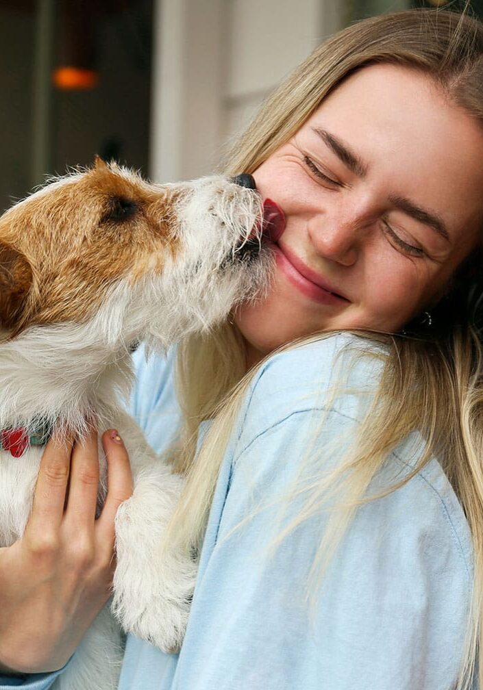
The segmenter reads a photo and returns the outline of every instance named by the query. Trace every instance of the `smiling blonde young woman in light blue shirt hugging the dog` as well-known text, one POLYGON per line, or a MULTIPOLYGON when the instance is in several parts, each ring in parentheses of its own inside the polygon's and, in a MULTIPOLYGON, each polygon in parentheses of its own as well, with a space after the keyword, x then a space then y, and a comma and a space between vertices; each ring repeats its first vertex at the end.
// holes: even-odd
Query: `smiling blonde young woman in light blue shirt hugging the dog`
MULTIPOLYGON (((188 475, 172 538, 201 555, 180 653, 129 638, 120 688, 478 687, 482 26, 411 10, 343 30, 229 167, 285 214, 276 275, 209 336, 137 355, 133 412, 188 475)), ((106 600, 131 479, 103 441, 100 520, 95 438, 50 444, 1 553, 0 687, 48 688, 106 600)))

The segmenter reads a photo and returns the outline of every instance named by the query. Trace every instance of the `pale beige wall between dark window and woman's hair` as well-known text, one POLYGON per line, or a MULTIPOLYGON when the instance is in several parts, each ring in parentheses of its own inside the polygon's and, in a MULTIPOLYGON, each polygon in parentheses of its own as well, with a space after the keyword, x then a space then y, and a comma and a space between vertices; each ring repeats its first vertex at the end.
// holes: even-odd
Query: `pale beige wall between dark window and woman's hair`
POLYGON ((156 0, 151 177, 189 179, 324 37, 339 0, 156 0))

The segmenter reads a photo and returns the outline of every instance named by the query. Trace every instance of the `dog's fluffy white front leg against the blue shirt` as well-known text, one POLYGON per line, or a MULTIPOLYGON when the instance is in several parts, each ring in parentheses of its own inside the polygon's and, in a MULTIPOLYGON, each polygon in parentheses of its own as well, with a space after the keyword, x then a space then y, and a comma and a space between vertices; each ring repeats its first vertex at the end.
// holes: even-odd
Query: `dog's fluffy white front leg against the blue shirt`
POLYGON ((113 613, 126 632, 169 651, 182 642, 196 578, 196 563, 164 540, 183 480, 132 429, 124 437, 134 492, 116 515, 113 613))

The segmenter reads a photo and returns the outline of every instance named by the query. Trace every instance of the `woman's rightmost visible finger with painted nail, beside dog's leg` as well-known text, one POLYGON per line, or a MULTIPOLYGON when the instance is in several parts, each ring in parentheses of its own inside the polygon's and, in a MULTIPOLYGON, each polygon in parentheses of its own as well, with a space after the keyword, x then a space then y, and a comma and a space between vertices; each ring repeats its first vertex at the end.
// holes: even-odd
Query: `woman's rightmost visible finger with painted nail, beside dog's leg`
POLYGON ((133 475, 129 455, 117 431, 102 435, 107 460, 107 496, 97 526, 102 540, 114 541, 114 519, 120 504, 133 493, 133 475))

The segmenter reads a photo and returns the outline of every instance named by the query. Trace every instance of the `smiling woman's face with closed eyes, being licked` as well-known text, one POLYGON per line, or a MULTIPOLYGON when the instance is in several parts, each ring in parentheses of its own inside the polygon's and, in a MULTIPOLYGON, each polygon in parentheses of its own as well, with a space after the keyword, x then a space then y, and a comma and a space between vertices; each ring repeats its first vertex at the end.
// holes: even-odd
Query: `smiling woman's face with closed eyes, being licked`
POLYGON ((399 330, 482 226, 480 125, 400 66, 349 77, 253 175, 286 225, 269 295, 235 315, 249 364, 316 331, 399 330))

